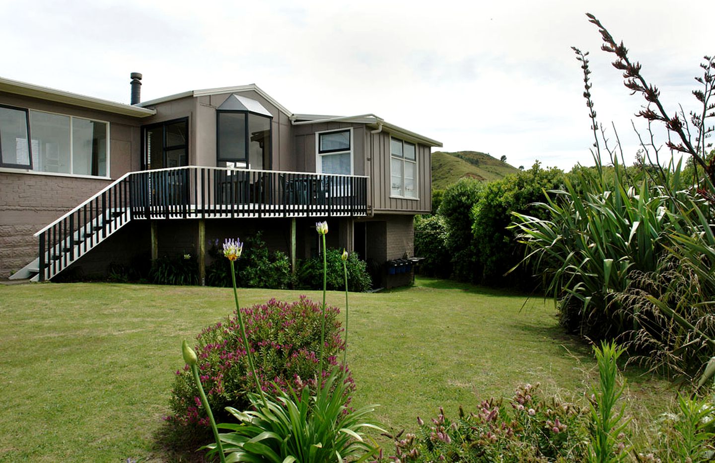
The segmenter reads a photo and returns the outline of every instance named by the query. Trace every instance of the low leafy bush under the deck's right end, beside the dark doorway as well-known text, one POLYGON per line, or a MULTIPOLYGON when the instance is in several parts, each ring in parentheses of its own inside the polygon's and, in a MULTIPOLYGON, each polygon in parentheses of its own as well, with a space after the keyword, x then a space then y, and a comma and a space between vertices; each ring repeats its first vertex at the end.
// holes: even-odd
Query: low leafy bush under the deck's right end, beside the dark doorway
MULTIPOLYGON (((345 291, 341 255, 342 250, 327 250, 327 289, 330 291, 345 291)), ((346 265, 349 291, 368 291, 373 282, 370 280, 365 261, 360 260, 358 253, 350 253, 347 256, 346 265)), ((300 265, 298 284, 300 288, 322 289, 322 256, 307 259, 300 265)))

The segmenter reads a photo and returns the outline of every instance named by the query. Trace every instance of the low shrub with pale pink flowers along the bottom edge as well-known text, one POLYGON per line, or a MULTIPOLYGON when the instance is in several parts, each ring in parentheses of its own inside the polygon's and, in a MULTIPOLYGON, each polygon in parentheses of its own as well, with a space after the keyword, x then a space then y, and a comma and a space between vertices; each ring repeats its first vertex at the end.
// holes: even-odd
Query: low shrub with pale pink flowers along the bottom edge
POLYGON ((586 410, 520 386, 510 403, 490 399, 458 419, 418 418, 418 434, 395 437, 395 455, 376 462, 551 462, 586 458, 586 410))

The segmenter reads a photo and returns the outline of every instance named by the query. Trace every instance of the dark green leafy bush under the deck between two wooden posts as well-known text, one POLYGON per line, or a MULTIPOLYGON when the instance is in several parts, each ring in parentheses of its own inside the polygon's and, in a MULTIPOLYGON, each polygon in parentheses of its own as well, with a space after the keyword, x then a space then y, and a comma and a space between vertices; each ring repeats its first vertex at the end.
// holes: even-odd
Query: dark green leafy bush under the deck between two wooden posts
MULTIPOLYGON (((206 283, 209 286, 230 288, 231 266, 220 254, 218 242, 209 241, 209 256, 214 261, 206 271, 206 283)), ((236 284, 243 288, 287 289, 295 284, 295 276, 290 271, 290 260, 285 253, 268 251, 261 233, 246 238, 245 250, 236 261, 236 284)))

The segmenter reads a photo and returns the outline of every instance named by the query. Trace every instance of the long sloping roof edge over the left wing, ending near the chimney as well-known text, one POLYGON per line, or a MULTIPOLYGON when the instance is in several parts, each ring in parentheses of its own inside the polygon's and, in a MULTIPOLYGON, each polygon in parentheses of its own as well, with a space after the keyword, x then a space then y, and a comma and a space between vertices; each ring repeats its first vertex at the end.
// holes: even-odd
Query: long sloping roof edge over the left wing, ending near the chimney
POLYGON ((34 97, 46 99, 53 102, 72 104, 84 108, 99 109, 100 111, 112 112, 114 114, 123 114, 125 116, 148 117, 153 116, 157 112, 154 109, 147 109, 131 104, 117 103, 108 99, 95 97, 87 97, 64 90, 51 89, 49 87, 41 87, 40 85, 28 84, 18 80, 5 79, 0 77, 0 92, 8 92, 12 94, 23 95, 25 97, 34 97))

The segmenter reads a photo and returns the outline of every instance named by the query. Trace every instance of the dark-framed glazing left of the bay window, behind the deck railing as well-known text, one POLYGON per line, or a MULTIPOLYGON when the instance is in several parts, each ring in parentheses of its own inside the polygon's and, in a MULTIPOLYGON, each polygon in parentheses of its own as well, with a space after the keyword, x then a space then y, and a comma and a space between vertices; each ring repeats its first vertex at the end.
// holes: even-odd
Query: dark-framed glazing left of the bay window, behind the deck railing
POLYGON ((144 169, 189 165, 189 120, 159 122, 144 127, 144 169))

